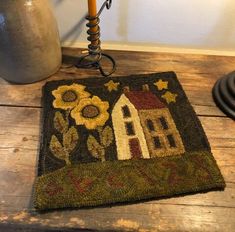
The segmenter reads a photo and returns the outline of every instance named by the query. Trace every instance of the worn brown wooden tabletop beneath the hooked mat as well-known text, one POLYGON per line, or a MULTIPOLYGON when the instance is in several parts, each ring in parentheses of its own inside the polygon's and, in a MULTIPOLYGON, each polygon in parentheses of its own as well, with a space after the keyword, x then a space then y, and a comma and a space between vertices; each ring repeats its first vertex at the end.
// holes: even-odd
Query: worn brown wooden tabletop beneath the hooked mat
MULTIPOLYGON (((64 49, 75 56, 80 50, 64 49)), ((226 180, 224 192, 209 192, 146 203, 51 211, 32 206, 37 173, 41 88, 46 81, 98 76, 95 70, 62 67, 30 85, 0 79, 0 221, 29 227, 76 227, 127 231, 235 231, 235 123, 211 97, 215 81, 235 69, 235 57, 109 51, 116 76, 175 71, 199 116, 226 180)), ((71 57, 70 57, 71 58, 71 57)))

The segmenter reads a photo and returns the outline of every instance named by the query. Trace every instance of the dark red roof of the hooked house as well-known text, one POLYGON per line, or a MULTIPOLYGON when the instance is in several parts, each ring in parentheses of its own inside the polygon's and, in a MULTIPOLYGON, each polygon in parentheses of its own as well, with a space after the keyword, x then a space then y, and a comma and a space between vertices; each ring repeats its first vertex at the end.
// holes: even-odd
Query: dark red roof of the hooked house
POLYGON ((166 106, 150 91, 130 91, 125 96, 137 110, 160 109, 166 106))

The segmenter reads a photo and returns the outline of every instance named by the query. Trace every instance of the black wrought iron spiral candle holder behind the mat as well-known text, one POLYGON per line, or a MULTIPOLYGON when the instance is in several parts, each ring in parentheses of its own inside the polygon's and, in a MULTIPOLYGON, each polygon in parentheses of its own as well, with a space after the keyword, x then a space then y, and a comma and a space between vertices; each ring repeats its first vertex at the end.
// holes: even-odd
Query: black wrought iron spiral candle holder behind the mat
POLYGON ((79 57, 77 63, 75 64, 77 68, 99 69, 103 76, 110 76, 115 72, 115 60, 110 55, 102 52, 99 27, 100 15, 102 11, 105 7, 110 9, 111 5, 112 0, 106 0, 96 16, 86 16, 86 19, 89 21, 86 24, 86 26, 89 28, 87 31, 87 40, 90 41, 90 44, 88 45, 88 54, 79 57), (103 59, 106 59, 110 63, 110 71, 105 71, 104 67, 102 66, 101 62, 103 59))

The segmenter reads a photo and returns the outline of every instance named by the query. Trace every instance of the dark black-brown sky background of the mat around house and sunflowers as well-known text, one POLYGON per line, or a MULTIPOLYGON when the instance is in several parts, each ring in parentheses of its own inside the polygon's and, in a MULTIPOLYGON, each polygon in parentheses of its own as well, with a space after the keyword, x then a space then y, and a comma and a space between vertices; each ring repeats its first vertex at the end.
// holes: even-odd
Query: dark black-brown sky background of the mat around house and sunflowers
MULTIPOLYGON (((174 72, 167 73, 155 73, 148 75, 133 75, 128 77, 112 77, 114 82, 119 82, 118 91, 109 92, 104 86, 105 83, 110 81, 110 78, 89 78, 81 80, 63 80, 63 81, 52 81, 48 82, 43 88, 43 115, 42 115, 42 138, 41 138, 41 149, 39 155, 39 169, 38 175, 52 172, 59 168, 62 168, 65 163, 62 160, 57 159, 51 154, 49 149, 49 143, 52 134, 55 134, 60 139, 60 134, 53 128, 53 118, 55 111, 60 111, 64 114, 65 111, 60 109, 54 109, 52 102, 54 96, 52 91, 57 89, 60 85, 71 85, 73 83, 82 84, 86 86, 86 91, 90 92, 91 95, 97 95, 102 101, 108 101, 110 108, 108 110, 111 115, 112 108, 116 101, 123 93, 123 87, 129 86, 130 90, 142 90, 144 84, 148 84, 150 91, 153 92, 158 98, 168 106, 171 115, 174 118, 176 127, 181 135, 182 141, 185 146, 185 150, 199 151, 210 149, 207 138, 202 129, 201 123, 198 120, 192 106, 190 105, 179 81, 174 72), (170 103, 169 105, 165 102, 161 95, 167 90, 158 91, 154 83, 162 79, 168 81, 168 91, 176 93, 176 103, 170 103), (45 162, 44 162, 45 160, 45 162)), ((87 150, 87 138, 89 134, 94 135, 97 140, 98 132, 96 130, 88 131, 84 126, 76 126, 73 118, 70 117, 70 126, 75 126, 79 133, 79 143, 75 151, 71 154, 70 160, 73 164, 86 163, 86 162, 99 162, 98 159, 92 157, 87 150)), ((112 127, 111 116, 105 124, 112 127)), ((106 150, 106 160, 116 160, 116 145, 115 142, 110 145, 106 150)))

